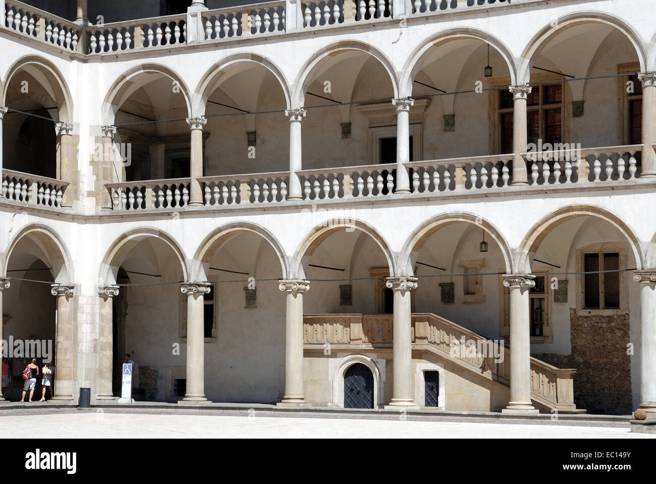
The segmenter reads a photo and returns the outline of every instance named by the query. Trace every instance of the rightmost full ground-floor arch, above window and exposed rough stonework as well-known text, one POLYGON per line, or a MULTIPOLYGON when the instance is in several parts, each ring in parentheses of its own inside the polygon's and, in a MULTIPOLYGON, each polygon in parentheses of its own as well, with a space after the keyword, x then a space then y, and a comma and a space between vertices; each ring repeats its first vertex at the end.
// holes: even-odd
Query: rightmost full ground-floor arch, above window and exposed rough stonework
POLYGON ((642 250, 640 249, 640 240, 621 217, 605 209, 601 209, 600 207, 593 207, 591 205, 569 205, 546 214, 526 233, 516 256, 516 264, 513 268, 514 272, 527 272, 529 270, 529 254, 537 250, 544 240, 544 237, 546 237, 546 235, 548 235, 548 233, 550 233, 556 226, 565 222, 565 220, 577 216, 595 216, 609 222, 617 228, 617 230, 626 237, 626 241, 633 251, 636 265, 638 266, 637 269, 642 270, 644 267, 644 257, 642 255, 642 250))

